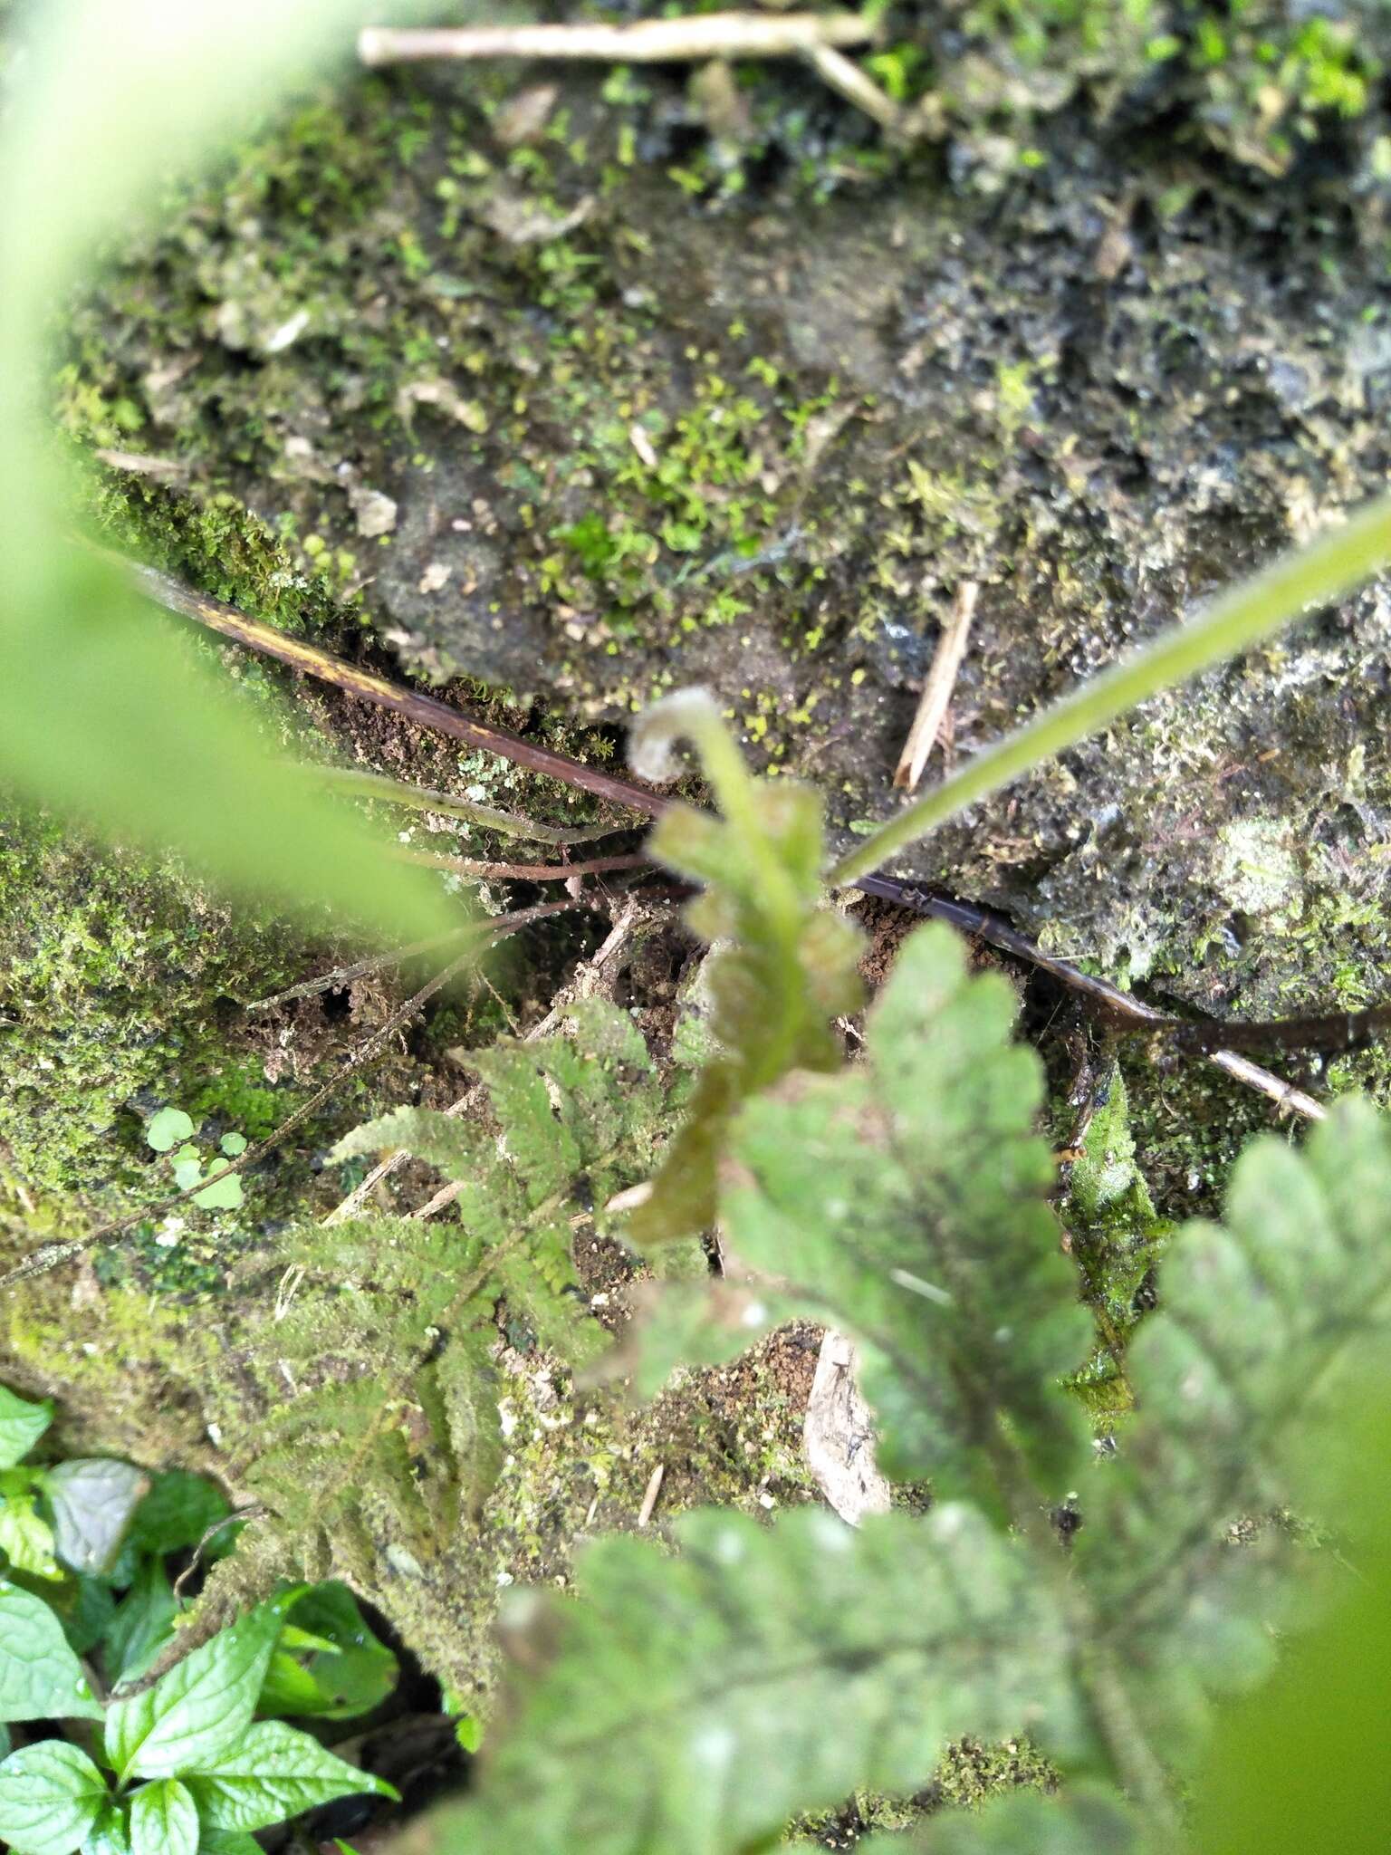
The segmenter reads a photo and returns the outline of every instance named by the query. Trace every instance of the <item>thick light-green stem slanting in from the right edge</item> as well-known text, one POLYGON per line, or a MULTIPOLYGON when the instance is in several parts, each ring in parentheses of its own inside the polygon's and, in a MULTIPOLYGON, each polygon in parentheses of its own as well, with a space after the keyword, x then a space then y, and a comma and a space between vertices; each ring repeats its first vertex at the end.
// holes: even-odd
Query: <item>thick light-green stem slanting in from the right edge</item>
POLYGON ((1094 735, 1137 703, 1226 657, 1237 657, 1309 607, 1326 605, 1359 586, 1387 558, 1391 558, 1391 495, 1378 497, 1343 527, 1322 534, 1308 547, 1282 555, 1263 573, 1219 594, 1187 623, 1172 625, 1154 644, 1053 703, 1037 722, 987 748, 951 779, 944 779, 933 792, 924 794, 898 818, 890 818, 857 844, 835 864, 827 881, 835 889, 844 889, 857 876, 877 868, 896 850, 927 837, 948 818, 1007 787, 1040 761, 1094 735))

